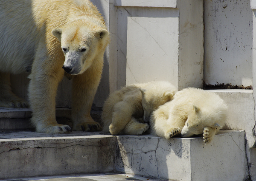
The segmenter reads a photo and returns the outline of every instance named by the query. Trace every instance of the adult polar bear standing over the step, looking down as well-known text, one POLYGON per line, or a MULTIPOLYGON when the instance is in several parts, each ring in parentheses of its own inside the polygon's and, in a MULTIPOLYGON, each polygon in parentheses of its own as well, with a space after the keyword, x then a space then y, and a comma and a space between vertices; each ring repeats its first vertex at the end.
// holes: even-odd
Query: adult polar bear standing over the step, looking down
POLYGON ((11 92, 9 73, 31 71, 32 124, 42 133, 67 133, 55 119, 55 96, 64 76, 73 79, 73 130, 101 130, 90 116, 100 82, 108 31, 89 0, 0 1, 0 106, 27 107, 11 92))

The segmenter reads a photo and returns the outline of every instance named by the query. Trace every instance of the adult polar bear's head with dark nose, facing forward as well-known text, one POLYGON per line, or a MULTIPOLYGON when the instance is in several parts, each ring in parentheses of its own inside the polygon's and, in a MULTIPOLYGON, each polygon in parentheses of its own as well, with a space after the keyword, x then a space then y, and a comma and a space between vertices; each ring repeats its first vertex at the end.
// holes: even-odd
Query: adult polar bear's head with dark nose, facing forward
POLYGON ((71 75, 82 74, 92 65, 96 56, 103 57, 108 44, 106 29, 84 24, 83 20, 76 20, 52 30, 52 34, 61 42, 65 55, 62 68, 71 75))

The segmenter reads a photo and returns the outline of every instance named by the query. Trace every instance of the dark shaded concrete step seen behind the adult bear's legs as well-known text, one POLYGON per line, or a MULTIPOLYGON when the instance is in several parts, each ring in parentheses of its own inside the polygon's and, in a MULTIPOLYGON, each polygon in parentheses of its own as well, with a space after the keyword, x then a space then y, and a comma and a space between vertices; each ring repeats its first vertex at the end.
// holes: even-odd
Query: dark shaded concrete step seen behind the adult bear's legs
MULTIPOLYGON (((92 118, 100 122, 99 110, 92 110, 92 118)), ((0 107, 0 130, 32 130, 30 118, 32 111, 29 108, 0 107)), ((71 109, 56 108, 56 120, 59 124, 68 124, 72 127, 71 109)))

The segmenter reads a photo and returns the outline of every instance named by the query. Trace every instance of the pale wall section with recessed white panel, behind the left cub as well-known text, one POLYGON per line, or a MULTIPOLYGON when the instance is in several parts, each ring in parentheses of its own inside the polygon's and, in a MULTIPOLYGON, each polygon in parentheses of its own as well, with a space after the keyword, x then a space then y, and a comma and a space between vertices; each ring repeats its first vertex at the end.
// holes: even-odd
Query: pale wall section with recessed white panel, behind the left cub
POLYGON ((116 0, 114 7, 111 90, 157 80, 203 87, 203 0, 116 0))

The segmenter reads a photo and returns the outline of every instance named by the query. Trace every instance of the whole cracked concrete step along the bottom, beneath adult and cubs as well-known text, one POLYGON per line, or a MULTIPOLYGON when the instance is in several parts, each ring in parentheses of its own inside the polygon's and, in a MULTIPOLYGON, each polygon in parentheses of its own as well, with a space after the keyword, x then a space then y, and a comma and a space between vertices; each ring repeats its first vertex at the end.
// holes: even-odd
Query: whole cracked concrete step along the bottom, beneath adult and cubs
POLYGON ((201 137, 167 141, 152 135, 2 131, 0 179, 123 173, 158 180, 240 181, 248 175, 244 148, 244 131, 221 131, 207 145, 201 137))

